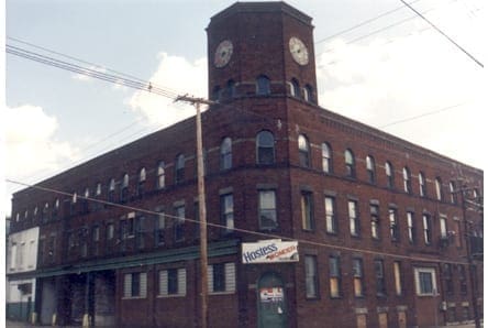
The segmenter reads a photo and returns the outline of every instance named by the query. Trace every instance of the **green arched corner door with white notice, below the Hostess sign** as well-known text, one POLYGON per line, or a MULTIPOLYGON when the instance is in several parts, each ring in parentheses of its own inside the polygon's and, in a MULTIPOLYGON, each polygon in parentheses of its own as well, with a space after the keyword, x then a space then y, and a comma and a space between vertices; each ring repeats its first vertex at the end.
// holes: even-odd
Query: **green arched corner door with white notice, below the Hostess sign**
POLYGON ((257 286, 258 327, 287 327, 288 309, 281 277, 267 272, 260 276, 257 286))

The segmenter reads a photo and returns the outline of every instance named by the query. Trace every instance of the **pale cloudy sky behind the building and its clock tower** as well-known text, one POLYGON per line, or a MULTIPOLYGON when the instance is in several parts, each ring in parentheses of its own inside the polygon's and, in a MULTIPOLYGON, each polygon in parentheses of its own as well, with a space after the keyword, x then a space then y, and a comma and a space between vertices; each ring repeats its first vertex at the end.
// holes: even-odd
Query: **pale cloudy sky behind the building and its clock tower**
MULTIPOLYGON (((207 97, 206 28, 234 2, 7 0, 5 43, 207 97)), ((313 19, 321 107, 485 167, 486 80, 473 58, 398 0, 286 2, 313 19)), ((409 3, 485 64, 485 1, 409 3)), ((0 129, 7 160, 0 171, 5 179, 38 183, 195 114, 190 106, 154 94, 12 54, 4 59, 0 129)), ((11 194, 23 186, 2 185, 4 217, 11 194)))

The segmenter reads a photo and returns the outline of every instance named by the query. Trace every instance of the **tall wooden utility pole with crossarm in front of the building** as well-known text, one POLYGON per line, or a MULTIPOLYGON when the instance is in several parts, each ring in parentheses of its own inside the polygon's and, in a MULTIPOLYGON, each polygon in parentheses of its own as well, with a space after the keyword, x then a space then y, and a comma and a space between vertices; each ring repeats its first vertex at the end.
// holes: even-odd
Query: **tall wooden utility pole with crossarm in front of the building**
POLYGON ((206 186, 203 176, 203 145, 201 133, 201 112, 200 105, 212 105, 213 101, 202 98, 188 96, 178 96, 175 101, 186 101, 197 109, 197 176, 198 176, 198 210, 200 217, 200 286, 201 286, 201 327, 208 327, 208 253, 207 253, 207 206, 206 206, 206 186))

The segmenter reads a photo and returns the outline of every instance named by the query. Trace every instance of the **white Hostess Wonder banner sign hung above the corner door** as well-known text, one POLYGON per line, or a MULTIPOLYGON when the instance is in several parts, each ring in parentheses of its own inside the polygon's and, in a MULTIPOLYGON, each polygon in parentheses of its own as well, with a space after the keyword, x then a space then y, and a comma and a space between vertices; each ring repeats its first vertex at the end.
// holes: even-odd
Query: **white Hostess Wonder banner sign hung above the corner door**
POLYGON ((298 262, 298 241, 280 239, 242 243, 242 263, 298 262))

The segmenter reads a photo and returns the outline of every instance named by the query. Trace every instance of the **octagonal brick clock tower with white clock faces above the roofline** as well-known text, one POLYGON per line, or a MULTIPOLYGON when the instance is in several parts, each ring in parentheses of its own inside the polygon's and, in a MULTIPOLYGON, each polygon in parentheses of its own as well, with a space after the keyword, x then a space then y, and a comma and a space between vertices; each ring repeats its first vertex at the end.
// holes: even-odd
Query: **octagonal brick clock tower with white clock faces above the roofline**
POLYGON ((236 2, 207 29, 209 98, 317 103, 312 19, 285 2, 236 2))

